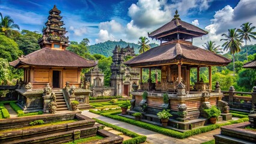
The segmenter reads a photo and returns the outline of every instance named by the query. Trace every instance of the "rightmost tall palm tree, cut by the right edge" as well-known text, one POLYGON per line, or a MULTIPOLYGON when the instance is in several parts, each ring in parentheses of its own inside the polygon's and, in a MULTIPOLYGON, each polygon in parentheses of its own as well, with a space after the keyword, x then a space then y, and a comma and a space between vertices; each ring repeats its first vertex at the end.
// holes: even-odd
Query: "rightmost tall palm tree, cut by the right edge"
MULTIPOLYGON (((247 45, 247 41, 251 41, 251 38, 256 40, 256 32, 252 32, 252 30, 255 29, 255 26, 252 26, 252 23, 243 23, 243 25, 241 25, 240 27, 242 29, 237 29, 237 32, 239 32, 240 37, 245 40, 245 46, 247 45)), ((248 50, 246 47, 246 59, 248 61, 248 50)))

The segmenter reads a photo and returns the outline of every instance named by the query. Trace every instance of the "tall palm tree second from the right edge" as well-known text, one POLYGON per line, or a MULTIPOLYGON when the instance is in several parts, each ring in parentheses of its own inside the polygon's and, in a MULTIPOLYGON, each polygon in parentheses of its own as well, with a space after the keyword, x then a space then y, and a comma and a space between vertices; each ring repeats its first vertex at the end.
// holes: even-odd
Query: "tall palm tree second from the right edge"
POLYGON ((234 29, 228 29, 228 35, 222 34, 221 35, 222 40, 226 41, 224 44, 222 44, 222 47, 224 47, 224 50, 230 50, 230 54, 233 55, 233 70, 235 74, 234 69, 234 54, 240 52, 240 47, 242 46, 243 41, 241 40, 239 34, 237 34, 236 28, 234 29))

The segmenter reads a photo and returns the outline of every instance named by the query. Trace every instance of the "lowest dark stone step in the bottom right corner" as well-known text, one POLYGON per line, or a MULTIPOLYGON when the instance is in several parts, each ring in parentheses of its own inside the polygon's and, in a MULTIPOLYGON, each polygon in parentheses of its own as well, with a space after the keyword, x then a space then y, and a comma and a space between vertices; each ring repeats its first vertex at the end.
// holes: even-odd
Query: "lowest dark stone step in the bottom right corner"
POLYGON ((215 143, 245 143, 252 144, 253 142, 248 142, 247 140, 237 139, 236 137, 225 136, 223 134, 216 134, 215 143))

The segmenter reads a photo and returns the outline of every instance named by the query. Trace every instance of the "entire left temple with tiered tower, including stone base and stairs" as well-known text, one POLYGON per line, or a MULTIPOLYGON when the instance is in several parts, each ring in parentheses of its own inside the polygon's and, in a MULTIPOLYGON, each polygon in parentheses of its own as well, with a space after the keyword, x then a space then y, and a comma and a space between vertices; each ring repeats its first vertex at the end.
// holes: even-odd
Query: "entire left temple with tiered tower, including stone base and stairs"
POLYGON ((23 81, 20 80, 19 89, 16 89, 19 93, 18 105, 24 112, 49 112, 48 105, 51 100, 58 104, 57 110, 72 110, 72 100, 79 101, 80 106, 89 103, 90 90, 82 89, 81 70, 94 67, 97 62, 66 50, 69 37, 65 36, 67 31, 59 14, 61 11, 54 5, 49 11, 43 36, 38 40, 40 50, 10 62, 14 68, 24 70, 23 81), (64 88, 76 89, 76 92, 62 91, 64 88))

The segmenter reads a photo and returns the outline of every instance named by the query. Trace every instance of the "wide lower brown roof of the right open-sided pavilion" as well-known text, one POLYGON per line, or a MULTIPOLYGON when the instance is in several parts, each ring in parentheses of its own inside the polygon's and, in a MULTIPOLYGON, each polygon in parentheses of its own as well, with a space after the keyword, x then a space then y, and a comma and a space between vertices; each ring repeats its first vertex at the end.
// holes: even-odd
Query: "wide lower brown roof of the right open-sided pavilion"
POLYGON ((209 65, 227 65, 231 62, 230 59, 227 59, 224 56, 210 52, 209 50, 201 49, 192 44, 170 43, 154 47, 147 52, 124 62, 124 64, 131 67, 147 66, 153 64, 166 64, 181 58, 183 61, 209 65))

